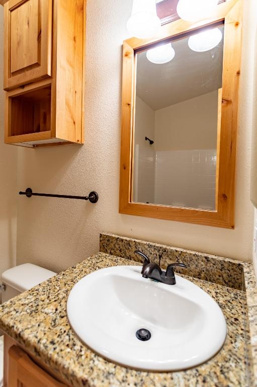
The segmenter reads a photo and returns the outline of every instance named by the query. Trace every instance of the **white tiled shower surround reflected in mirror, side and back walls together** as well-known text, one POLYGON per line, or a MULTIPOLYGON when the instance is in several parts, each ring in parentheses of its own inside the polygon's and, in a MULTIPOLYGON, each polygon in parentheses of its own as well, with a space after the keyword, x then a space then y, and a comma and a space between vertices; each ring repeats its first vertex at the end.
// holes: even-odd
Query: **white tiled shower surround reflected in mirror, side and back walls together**
POLYGON ((216 149, 136 151, 134 201, 215 210, 216 149))

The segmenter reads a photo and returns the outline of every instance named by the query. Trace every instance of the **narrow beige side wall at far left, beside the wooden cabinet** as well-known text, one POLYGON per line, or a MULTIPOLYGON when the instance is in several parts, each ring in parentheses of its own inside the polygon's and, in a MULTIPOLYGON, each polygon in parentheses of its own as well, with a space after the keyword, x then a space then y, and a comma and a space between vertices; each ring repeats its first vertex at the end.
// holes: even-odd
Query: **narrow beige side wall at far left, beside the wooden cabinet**
POLYGON ((16 263, 17 148, 4 145, 4 12, 0 6, 0 275, 16 263))

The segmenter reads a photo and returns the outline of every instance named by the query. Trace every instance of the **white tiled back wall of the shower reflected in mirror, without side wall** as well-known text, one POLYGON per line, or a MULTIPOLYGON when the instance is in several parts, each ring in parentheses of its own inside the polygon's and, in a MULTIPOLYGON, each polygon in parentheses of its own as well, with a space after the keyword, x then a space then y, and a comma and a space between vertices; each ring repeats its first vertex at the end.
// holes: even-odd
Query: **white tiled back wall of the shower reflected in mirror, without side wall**
POLYGON ((157 151, 155 203, 215 210, 216 149, 157 151))

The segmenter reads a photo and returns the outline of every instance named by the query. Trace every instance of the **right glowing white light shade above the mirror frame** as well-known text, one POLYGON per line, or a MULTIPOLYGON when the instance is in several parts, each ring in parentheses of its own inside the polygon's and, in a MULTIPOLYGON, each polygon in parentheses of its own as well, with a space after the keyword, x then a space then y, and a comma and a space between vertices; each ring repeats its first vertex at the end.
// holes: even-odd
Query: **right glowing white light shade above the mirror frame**
POLYGON ((180 0, 177 13, 181 19, 195 22, 208 18, 217 5, 218 0, 180 0))

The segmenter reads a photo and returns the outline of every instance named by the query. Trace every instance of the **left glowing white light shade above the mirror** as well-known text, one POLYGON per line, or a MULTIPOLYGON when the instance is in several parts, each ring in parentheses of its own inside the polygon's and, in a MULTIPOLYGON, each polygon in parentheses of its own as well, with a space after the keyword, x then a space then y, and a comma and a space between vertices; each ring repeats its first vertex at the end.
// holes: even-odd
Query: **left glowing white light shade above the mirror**
POLYGON ((129 33, 136 38, 146 39, 160 31, 155 0, 133 0, 132 14, 127 22, 129 33))

